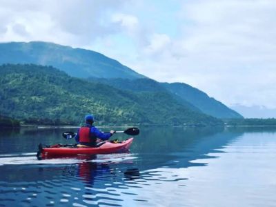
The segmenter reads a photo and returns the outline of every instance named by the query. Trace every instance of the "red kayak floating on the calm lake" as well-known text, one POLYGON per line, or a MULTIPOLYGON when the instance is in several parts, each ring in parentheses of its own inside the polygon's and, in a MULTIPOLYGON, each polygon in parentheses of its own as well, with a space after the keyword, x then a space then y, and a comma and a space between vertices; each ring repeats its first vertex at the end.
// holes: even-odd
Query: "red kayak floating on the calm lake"
POLYGON ((110 153, 119 153, 126 152, 132 144, 133 137, 119 143, 112 143, 111 141, 106 141, 104 144, 101 144, 99 147, 90 148, 90 147, 77 147, 77 146, 63 146, 56 144, 50 147, 40 147, 39 153, 41 158, 49 157, 69 157, 76 155, 96 155, 96 154, 110 154, 110 153))

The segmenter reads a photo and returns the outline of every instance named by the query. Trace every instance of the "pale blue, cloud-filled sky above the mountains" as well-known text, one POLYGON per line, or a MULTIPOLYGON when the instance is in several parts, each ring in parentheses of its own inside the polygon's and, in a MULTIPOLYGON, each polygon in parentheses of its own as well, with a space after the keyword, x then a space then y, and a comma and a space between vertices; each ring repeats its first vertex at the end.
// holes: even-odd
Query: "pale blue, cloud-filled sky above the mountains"
POLYGON ((0 42, 117 59, 225 103, 276 108, 275 0, 0 0, 0 42))

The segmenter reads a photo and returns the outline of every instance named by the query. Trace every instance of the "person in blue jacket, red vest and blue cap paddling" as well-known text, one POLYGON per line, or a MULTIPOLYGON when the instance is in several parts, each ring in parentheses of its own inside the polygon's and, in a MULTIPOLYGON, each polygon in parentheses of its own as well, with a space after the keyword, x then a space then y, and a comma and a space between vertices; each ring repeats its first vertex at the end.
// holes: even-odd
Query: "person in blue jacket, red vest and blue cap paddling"
POLYGON ((110 133, 103 133, 93 126, 93 115, 86 115, 85 120, 86 124, 78 129, 77 135, 75 136, 77 144, 95 147, 97 138, 108 140, 115 133, 115 130, 110 130, 110 133))

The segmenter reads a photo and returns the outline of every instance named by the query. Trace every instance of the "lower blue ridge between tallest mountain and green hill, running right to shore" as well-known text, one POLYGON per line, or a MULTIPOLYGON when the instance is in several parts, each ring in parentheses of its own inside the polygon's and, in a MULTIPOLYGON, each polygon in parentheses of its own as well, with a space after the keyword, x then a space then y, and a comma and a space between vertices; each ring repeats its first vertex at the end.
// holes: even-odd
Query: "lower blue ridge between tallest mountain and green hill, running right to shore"
POLYGON ((152 79, 91 79, 106 83, 121 90, 130 90, 133 92, 151 92, 162 91, 169 92, 181 104, 191 110, 204 112, 219 119, 242 119, 234 110, 228 108, 223 103, 208 97, 205 92, 193 88, 185 83, 159 83, 152 79))

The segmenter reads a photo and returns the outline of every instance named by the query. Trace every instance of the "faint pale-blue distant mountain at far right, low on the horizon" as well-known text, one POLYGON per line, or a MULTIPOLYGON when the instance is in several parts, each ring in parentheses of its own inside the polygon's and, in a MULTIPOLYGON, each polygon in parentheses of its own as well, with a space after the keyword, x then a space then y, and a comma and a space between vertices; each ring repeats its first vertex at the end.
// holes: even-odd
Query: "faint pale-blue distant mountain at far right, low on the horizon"
POLYGON ((266 108, 266 106, 243 106, 240 104, 230 107, 246 118, 276 118, 276 108, 266 108))

